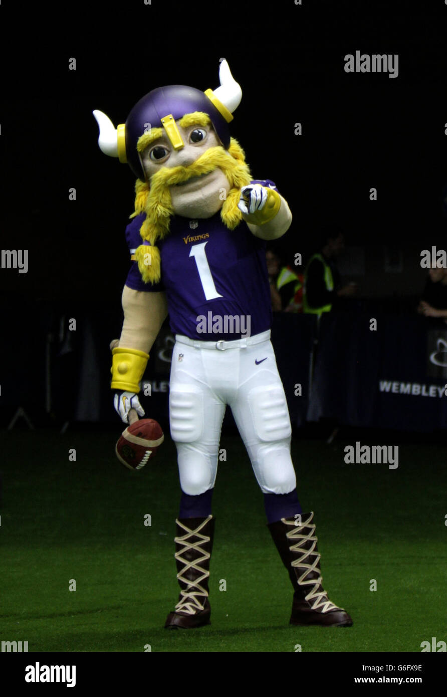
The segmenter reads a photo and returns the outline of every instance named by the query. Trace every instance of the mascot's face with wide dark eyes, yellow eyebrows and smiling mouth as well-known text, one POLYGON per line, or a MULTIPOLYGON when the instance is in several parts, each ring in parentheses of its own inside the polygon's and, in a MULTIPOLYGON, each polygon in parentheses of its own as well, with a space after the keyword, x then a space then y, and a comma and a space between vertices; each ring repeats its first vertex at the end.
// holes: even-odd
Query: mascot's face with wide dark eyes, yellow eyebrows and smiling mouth
MULTIPOLYGON (((163 133, 141 153, 141 162, 150 186, 152 181, 158 181, 164 185, 163 190, 168 189, 175 215, 207 218, 217 213, 230 190, 230 182, 219 167, 219 158, 227 151, 211 123, 193 123, 185 127, 181 121, 178 119, 175 123, 184 145, 174 148, 168 135, 163 133), (206 158, 203 158, 205 153, 206 158), (212 169, 203 173, 205 159, 206 169, 212 169), (179 172, 182 181, 172 183, 179 172)), ((233 158, 229 157, 228 167, 231 160, 233 158)))

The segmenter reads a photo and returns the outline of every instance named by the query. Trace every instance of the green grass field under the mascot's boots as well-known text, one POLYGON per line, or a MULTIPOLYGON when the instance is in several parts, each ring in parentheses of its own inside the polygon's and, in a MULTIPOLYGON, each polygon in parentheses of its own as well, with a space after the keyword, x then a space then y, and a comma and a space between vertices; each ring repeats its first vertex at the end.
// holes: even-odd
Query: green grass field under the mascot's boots
POLYGON ((301 505, 315 511, 324 588, 354 620, 344 629, 301 628, 288 625, 292 587, 242 441, 224 435, 212 624, 167 631, 178 598, 175 446, 166 438, 133 474, 113 453, 119 431, 3 431, 2 641, 28 641, 30 652, 141 652, 148 644, 163 652, 293 652, 297 644, 306 652, 420 652, 432 636, 446 641, 443 447, 400 445, 390 470, 344 464, 343 441, 292 442, 301 505))

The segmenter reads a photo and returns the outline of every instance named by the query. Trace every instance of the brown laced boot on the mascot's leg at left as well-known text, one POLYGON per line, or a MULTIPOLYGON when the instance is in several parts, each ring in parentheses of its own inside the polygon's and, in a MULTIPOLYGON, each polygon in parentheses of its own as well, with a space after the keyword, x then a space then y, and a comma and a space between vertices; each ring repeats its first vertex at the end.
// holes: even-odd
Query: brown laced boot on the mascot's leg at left
POLYGON ((180 595, 168 614, 166 629, 192 629, 210 625, 208 578, 214 537, 214 518, 182 518, 177 523, 175 563, 180 595))

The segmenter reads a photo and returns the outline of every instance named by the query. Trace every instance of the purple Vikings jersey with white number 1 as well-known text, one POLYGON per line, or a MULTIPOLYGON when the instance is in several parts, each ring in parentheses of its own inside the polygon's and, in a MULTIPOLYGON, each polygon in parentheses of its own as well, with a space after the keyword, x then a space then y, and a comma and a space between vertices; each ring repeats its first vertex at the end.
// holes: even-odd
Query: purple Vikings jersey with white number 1
MULTIPOLYGON (((253 179, 272 189, 269 179, 253 179)), ((141 245, 144 213, 126 228, 130 253, 141 245)), ((162 279, 146 284, 132 262, 126 285, 136 291, 165 291, 174 334, 199 341, 232 341, 265 332, 272 322, 272 303, 265 261, 265 240, 242 220, 229 230, 220 210, 210 218, 171 217, 171 232, 157 243, 162 279)))

